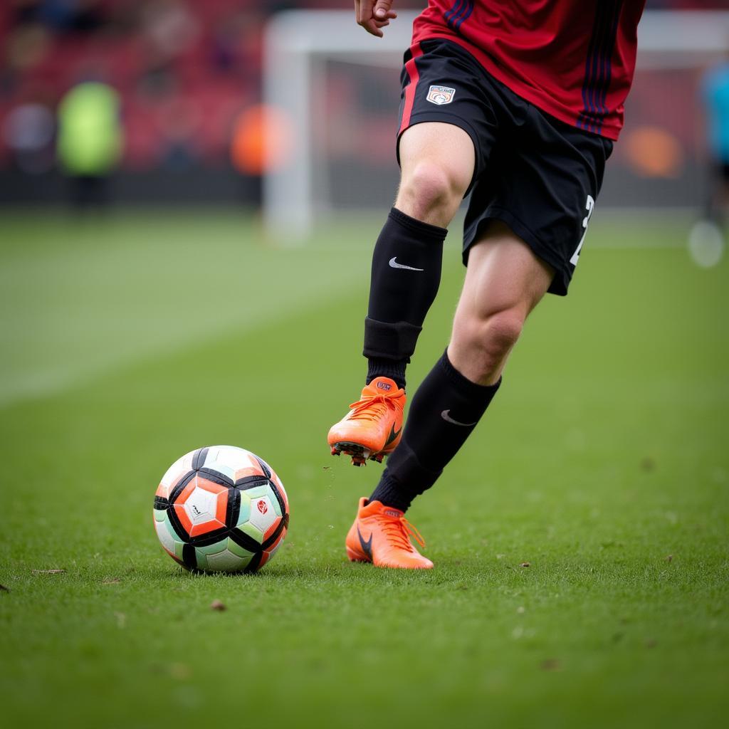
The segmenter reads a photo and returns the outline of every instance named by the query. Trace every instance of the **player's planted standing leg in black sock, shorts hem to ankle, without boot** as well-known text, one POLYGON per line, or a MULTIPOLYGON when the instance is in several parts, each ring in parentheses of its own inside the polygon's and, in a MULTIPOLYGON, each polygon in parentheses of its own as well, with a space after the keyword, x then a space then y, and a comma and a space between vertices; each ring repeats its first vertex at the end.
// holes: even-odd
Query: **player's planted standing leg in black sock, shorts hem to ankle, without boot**
POLYGON ((370 501, 404 512, 435 483, 486 412, 553 275, 504 223, 486 227, 470 250, 451 343, 416 391, 402 440, 370 501))

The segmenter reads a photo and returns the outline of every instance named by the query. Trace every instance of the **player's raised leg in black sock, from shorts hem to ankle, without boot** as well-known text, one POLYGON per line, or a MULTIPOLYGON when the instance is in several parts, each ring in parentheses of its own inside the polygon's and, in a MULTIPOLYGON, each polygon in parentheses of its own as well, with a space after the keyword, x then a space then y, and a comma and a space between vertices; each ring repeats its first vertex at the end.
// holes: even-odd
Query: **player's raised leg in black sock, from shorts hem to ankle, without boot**
POLYGON ((367 383, 387 377, 404 388, 405 365, 440 284, 446 227, 473 177, 475 149, 463 129, 423 122, 402 133, 399 160, 397 200, 373 253, 364 356, 367 383))

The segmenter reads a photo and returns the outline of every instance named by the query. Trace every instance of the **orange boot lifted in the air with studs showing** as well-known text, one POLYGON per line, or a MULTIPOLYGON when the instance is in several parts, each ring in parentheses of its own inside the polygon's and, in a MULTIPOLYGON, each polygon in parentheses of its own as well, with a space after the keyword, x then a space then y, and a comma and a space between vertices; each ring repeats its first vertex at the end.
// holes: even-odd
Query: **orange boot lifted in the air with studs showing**
POLYGON ((346 453, 355 466, 367 459, 382 463, 400 442, 404 408, 405 390, 387 377, 375 378, 346 416, 332 425, 328 439, 332 456, 346 453))

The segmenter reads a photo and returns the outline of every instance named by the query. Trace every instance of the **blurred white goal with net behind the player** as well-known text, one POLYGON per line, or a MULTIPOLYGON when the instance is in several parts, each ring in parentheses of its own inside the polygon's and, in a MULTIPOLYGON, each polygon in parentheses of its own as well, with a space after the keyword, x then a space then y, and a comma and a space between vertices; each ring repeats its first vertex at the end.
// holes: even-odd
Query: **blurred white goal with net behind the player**
MULTIPOLYGON (((285 143, 280 131, 265 141, 276 164, 265 174, 263 213, 275 237, 305 238, 337 214, 391 205, 399 69, 415 17, 402 12, 381 39, 357 26, 349 10, 283 12, 268 24, 265 104, 289 122, 285 143)), ((729 12, 644 14, 602 208, 701 204, 701 75, 728 50, 729 12)))

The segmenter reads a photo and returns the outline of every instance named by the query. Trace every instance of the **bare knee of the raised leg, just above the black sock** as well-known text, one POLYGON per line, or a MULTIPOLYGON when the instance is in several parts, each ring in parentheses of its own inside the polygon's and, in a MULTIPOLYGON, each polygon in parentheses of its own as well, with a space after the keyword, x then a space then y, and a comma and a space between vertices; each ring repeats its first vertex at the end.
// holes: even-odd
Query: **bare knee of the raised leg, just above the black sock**
POLYGON ((467 185, 447 167, 422 160, 403 176, 398 206, 418 220, 445 227, 456 214, 467 185))

